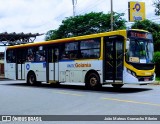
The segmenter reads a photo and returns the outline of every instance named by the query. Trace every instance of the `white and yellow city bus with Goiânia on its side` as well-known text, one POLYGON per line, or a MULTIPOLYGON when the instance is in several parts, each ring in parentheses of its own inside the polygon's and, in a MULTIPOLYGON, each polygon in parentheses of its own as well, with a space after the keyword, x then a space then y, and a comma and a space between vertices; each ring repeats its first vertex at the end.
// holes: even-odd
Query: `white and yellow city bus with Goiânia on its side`
POLYGON ((95 89, 104 84, 149 84, 155 80, 153 38, 130 29, 8 46, 5 78, 29 85, 82 82, 95 89))

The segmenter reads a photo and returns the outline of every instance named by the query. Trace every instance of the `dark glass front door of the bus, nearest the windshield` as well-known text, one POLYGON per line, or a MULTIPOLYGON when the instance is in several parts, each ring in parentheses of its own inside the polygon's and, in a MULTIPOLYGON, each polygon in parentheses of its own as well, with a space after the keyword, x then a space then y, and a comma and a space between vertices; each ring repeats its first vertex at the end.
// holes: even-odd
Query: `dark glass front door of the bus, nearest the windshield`
POLYGON ((105 37, 104 41, 104 80, 108 83, 123 82, 124 38, 105 37))

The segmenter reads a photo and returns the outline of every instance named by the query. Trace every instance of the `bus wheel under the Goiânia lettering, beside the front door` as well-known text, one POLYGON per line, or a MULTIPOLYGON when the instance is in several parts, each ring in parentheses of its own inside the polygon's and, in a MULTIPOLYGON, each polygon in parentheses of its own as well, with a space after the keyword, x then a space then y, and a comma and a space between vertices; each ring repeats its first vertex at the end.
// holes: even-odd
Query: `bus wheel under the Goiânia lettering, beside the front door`
POLYGON ((87 75, 87 79, 86 79, 85 85, 89 89, 98 89, 98 88, 100 88, 102 85, 100 84, 99 75, 96 74, 96 73, 90 73, 89 75, 87 75))

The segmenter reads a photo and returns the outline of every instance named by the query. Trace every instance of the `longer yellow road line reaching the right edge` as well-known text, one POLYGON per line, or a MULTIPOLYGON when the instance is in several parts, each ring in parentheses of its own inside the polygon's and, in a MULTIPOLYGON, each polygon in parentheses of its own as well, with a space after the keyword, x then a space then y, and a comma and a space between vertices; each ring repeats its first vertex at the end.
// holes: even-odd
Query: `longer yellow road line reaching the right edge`
POLYGON ((118 102, 145 104, 145 105, 152 105, 152 106, 159 106, 160 107, 160 104, 154 104, 154 103, 149 103, 149 102, 138 102, 138 101, 131 101, 131 100, 115 99, 115 98, 102 98, 102 99, 103 100, 118 101, 118 102))

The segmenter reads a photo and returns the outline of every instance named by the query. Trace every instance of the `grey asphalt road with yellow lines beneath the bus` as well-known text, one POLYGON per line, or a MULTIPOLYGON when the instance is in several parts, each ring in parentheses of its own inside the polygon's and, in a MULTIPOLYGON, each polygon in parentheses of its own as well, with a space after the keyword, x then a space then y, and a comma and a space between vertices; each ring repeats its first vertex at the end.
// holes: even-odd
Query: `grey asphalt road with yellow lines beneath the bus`
POLYGON ((0 115, 160 115, 160 86, 117 90, 106 85, 92 91, 75 84, 27 86, 1 80, 0 115))

